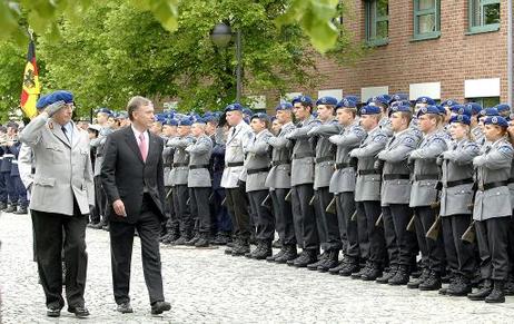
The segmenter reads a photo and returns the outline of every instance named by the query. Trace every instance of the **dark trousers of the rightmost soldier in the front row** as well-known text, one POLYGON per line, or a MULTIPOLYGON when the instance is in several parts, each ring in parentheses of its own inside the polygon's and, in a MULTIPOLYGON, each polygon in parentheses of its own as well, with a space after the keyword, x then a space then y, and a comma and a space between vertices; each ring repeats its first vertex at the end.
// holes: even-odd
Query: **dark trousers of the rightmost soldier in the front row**
POLYGON ((511 216, 475 222, 483 279, 507 279, 510 222, 511 216))

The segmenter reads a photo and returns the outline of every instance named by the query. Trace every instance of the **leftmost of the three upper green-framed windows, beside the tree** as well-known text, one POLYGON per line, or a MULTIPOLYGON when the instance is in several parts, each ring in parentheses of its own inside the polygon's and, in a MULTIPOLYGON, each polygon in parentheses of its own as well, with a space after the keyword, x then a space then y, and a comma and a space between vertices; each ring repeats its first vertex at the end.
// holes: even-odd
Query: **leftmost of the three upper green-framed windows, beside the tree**
POLYGON ((386 45, 389 36, 388 0, 366 1, 366 41, 370 46, 386 45))

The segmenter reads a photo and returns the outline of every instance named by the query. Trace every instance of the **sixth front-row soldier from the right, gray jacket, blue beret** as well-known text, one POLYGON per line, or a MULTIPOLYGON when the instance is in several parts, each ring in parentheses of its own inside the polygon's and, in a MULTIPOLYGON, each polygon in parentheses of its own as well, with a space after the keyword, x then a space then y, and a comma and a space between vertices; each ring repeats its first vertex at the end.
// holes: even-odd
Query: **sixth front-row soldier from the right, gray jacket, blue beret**
POLYGON ((356 159, 350 158, 349 151, 360 145, 366 138, 366 131, 356 120, 355 101, 344 98, 337 105, 336 114, 343 130, 329 138, 329 141, 336 145, 336 170, 332 176, 329 189, 335 195, 338 235, 340 242, 345 244, 342 246, 343 262, 338 266, 332 266, 328 271, 332 274, 348 276, 358 271, 360 258, 357 223, 352 219, 356 213, 354 192, 357 164, 356 159))

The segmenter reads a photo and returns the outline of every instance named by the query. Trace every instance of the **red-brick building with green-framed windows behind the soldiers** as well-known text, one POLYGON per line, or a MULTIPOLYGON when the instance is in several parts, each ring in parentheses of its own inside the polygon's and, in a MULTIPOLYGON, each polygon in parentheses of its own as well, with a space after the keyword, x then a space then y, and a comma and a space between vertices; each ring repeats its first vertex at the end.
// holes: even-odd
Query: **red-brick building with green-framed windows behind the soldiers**
MULTIPOLYGON (((344 1, 350 3, 343 23, 373 50, 349 67, 319 58, 317 67, 327 77, 304 92, 512 104, 512 0, 344 1)), ((299 91, 291 88, 288 95, 299 91)), ((260 96, 259 108, 275 106, 274 97, 260 96)))

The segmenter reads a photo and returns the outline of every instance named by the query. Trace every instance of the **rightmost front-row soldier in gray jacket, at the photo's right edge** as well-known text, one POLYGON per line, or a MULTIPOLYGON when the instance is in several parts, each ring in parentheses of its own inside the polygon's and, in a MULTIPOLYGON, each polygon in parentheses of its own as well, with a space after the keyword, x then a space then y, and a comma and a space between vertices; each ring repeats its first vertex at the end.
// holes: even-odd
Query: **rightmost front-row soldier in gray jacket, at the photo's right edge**
POLYGON ((468 294, 473 301, 504 303, 504 285, 508 275, 508 228, 512 206, 507 187, 513 158, 506 139, 507 121, 501 116, 487 116, 484 134, 491 145, 473 159, 477 192, 473 208, 476 239, 481 257, 483 286, 468 294), (492 286, 491 281, 494 282, 492 286))

